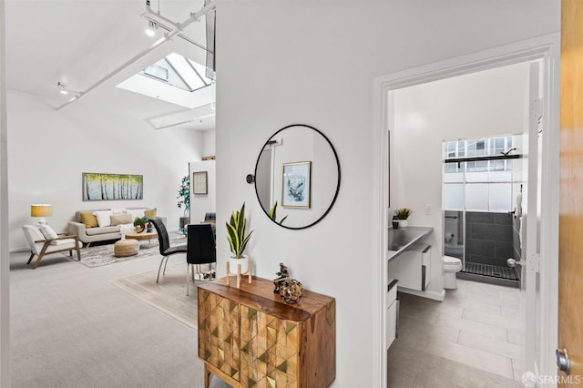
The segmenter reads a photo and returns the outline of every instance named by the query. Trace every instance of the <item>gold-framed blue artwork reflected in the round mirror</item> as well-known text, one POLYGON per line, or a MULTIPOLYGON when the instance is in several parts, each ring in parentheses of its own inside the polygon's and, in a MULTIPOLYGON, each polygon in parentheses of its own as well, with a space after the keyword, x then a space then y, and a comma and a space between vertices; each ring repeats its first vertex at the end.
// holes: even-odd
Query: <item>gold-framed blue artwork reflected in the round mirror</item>
POLYGON ((283 163, 281 207, 310 209, 312 162, 283 163))

